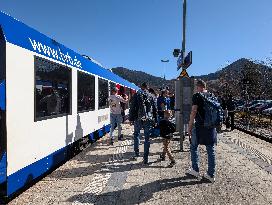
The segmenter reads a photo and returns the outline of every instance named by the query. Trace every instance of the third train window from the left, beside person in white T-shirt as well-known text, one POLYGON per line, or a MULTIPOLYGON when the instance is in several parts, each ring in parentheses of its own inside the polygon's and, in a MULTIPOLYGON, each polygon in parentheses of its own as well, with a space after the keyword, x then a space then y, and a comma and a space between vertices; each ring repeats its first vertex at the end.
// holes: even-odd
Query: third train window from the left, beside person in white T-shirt
POLYGON ((98 79, 98 108, 104 109, 109 107, 109 84, 107 80, 98 79))

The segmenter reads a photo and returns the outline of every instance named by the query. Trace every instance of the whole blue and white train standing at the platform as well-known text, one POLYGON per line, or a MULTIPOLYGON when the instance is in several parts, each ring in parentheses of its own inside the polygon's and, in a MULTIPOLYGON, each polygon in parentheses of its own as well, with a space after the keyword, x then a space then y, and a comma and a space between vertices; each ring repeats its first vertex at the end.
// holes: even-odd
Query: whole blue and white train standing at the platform
POLYGON ((65 162, 79 142, 109 132, 111 86, 138 89, 0 12, 1 196, 65 162))

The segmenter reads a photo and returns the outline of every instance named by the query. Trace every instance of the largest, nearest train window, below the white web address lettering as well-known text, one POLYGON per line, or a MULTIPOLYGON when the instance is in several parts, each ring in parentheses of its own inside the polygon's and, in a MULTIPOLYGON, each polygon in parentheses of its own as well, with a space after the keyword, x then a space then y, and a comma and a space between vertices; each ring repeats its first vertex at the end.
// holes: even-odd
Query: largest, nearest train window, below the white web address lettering
POLYGON ((71 69, 35 57, 35 119, 71 114, 71 69))

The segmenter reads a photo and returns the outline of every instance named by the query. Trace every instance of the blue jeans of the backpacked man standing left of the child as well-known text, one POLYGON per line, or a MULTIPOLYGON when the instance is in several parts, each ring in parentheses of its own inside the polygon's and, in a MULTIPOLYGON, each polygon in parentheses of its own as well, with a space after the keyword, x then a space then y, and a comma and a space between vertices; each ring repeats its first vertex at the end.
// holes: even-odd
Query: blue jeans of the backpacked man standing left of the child
POLYGON ((136 156, 139 156, 139 144, 140 144, 140 131, 144 129, 144 162, 148 162, 148 154, 150 147, 150 135, 153 129, 151 122, 142 122, 141 120, 136 120, 134 122, 134 152, 136 156))

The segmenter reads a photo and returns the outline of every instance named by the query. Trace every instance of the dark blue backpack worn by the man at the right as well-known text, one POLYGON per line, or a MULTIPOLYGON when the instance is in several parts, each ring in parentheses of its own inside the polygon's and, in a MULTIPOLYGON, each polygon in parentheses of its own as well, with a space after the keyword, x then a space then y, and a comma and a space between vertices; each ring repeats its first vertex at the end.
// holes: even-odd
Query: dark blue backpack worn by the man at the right
POLYGON ((223 122, 223 109, 220 106, 217 98, 213 94, 205 95, 199 93, 204 101, 204 127, 215 128, 222 124, 223 122))

